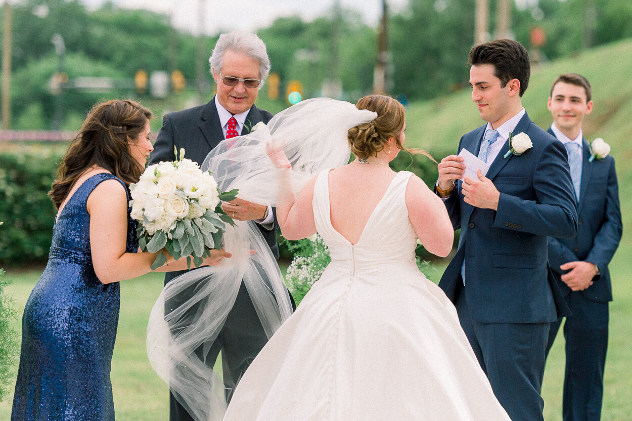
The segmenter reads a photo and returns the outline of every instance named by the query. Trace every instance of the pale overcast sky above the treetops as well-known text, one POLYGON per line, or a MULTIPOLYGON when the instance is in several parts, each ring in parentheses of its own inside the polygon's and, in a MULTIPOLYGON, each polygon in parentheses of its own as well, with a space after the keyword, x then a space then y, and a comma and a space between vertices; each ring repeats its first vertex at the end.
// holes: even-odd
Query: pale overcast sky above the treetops
MULTIPOLYGON (((80 0, 89 9, 97 9, 106 0, 80 0)), ((265 28, 279 16, 301 16, 313 20, 327 14, 334 0, 111 0, 121 8, 149 9, 172 16, 173 25, 198 34, 198 9, 204 4, 205 34, 216 35, 229 29, 254 31, 265 28)), ((369 25, 377 25, 382 0, 339 0, 346 9, 364 16, 369 25)), ((388 0, 391 11, 399 11, 408 0, 388 0)))

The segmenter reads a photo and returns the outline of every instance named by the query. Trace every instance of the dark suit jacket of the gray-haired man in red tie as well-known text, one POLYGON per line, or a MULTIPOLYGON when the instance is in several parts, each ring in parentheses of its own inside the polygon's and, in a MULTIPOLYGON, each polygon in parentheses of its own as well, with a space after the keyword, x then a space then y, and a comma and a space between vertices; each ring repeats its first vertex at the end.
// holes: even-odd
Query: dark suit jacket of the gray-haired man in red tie
MULTIPOLYGON (((248 116, 246 116, 246 125, 252 127, 259 121, 267 124, 271 118, 272 114, 268 111, 252 106, 248 116)), ((162 128, 154 144, 154 152, 150 156, 149 164, 175 161, 174 146, 178 150, 184 148, 186 158, 202 164, 210 150, 222 140, 224 140, 224 132, 219 121, 219 114, 217 114, 215 97, 213 97, 207 104, 169 113, 162 118, 162 128)), ((258 227, 266 243, 270 246, 272 254, 278 259, 276 218, 272 229, 266 229, 261 225, 258 227)), ((167 272, 165 279, 168 282, 183 272, 185 271, 167 272)))

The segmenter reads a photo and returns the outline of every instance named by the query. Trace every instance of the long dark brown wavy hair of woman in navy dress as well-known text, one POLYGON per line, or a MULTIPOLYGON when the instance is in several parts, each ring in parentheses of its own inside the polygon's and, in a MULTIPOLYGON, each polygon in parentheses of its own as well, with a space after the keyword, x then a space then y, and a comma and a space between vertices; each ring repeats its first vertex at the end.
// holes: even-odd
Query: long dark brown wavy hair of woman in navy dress
POLYGON ((128 138, 138 139, 150 118, 149 109, 128 99, 95 104, 61 160, 48 193, 55 207, 59 209, 78 178, 94 165, 107 169, 126 185, 136 183, 144 168, 131 155, 128 138))

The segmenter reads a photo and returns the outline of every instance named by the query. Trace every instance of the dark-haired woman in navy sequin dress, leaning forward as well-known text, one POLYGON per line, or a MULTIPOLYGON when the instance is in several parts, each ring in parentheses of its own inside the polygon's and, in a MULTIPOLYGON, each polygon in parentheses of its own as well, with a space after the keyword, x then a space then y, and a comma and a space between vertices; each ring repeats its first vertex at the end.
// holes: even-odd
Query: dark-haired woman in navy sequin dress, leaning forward
MULTIPOLYGON (((154 149, 151 115, 133 101, 97 104, 64 156, 49 193, 59 210, 48 264, 22 319, 12 421, 114 420, 118 282, 149 272, 155 259, 136 253, 127 188, 154 149)), ((169 271, 186 265, 169 260, 169 271)))

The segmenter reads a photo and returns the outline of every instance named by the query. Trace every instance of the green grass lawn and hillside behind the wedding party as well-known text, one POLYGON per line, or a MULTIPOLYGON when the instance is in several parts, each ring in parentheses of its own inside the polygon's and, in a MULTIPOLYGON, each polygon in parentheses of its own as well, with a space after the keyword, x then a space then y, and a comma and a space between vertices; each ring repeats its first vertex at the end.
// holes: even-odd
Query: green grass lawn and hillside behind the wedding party
MULTIPOLYGON (((465 61, 465 58, 464 58, 465 61)), ((464 67, 464 73, 467 68, 464 67)), ((628 421, 632 414, 632 285, 627 275, 632 261, 632 171, 627 162, 632 157, 632 40, 624 40, 578 56, 534 68, 523 105, 530 117, 543 128, 550 125, 546 102, 550 83, 560 73, 575 71, 592 83, 593 113, 585 120, 588 140, 603 137, 612 146, 617 160, 617 176, 624 236, 611 264, 614 302, 611 303, 610 338, 604 381, 604 421, 628 421), (604 65, 606 64, 606 65, 604 65)), ((414 102, 406 109, 406 146, 422 147, 434 152, 451 148, 456 152, 463 133, 483 124, 468 91, 432 101, 414 102)), ((437 159, 442 156, 435 154, 437 159)), ((430 278, 437 282, 446 265, 437 263, 430 278)), ((40 271, 16 272, 6 269, 5 278, 13 281, 6 289, 18 308, 23 308, 40 271)), ((149 274, 125 281, 121 288, 121 317, 112 361, 112 387, 116 418, 121 421, 168 418, 167 387, 154 374, 145 354, 145 329, 150 308, 162 288, 162 275, 149 274)), ((20 324, 15 323, 18 327, 20 324)), ((549 355, 542 396, 547 421, 561 420, 562 382, 564 377, 564 338, 560 333, 549 355)), ((0 420, 8 420, 12 396, 0 403, 0 420)))

